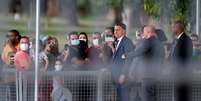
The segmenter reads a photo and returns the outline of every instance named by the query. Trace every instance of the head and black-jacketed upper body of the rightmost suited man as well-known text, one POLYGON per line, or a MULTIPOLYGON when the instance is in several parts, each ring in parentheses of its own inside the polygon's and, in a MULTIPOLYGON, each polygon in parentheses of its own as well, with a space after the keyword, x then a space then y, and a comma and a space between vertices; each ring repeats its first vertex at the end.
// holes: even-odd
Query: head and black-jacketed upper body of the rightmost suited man
POLYGON ((175 65, 185 66, 192 59, 193 45, 189 36, 184 32, 185 27, 181 22, 175 22, 173 33, 176 38, 173 41, 170 59, 175 65))

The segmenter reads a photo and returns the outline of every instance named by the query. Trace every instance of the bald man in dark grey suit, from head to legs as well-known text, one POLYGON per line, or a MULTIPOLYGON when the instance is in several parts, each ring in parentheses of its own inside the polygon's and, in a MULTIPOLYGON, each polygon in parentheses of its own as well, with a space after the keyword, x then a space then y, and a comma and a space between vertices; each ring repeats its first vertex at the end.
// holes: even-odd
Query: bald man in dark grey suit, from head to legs
POLYGON ((142 37, 136 49, 126 54, 126 58, 134 58, 134 68, 138 68, 135 72, 142 82, 142 101, 156 101, 156 91, 153 88, 156 86, 156 77, 161 73, 164 49, 153 26, 145 26, 142 37))

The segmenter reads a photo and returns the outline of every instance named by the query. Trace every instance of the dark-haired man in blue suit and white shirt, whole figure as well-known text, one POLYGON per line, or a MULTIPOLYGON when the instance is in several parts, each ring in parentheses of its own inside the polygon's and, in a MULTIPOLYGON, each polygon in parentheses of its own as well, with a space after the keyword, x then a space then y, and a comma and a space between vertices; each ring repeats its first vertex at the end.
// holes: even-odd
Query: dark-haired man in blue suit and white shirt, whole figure
POLYGON ((115 24, 114 36, 117 39, 113 56, 112 78, 117 88, 117 101, 128 101, 128 88, 126 87, 126 73, 132 59, 125 59, 125 54, 133 51, 134 44, 126 37, 126 25, 115 24))

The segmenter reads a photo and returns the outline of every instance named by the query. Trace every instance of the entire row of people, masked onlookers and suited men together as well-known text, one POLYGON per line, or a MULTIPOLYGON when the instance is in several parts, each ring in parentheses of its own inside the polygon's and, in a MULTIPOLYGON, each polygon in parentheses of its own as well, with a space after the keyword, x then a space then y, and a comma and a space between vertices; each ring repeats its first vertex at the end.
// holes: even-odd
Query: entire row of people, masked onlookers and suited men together
MULTIPOLYGON (((174 23, 172 43, 168 43, 161 33, 164 32, 152 25, 145 25, 136 32, 136 41, 133 43, 126 36, 126 25, 116 23, 105 28, 102 33, 72 31, 66 35, 63 49, 59 49, 60 40, 56 37, 45 36, 39 40, 39 68, 43 72, 111 71, 119 101, 128 101, 125 86, 132 66, 143 68, 138 70, 138 74, 143 75, 143 79, 150 79, 161 72, 158 68, 161 68, 164 62, 173 64, 173 67, 185 68, 188 64, 201 61, 199 38, 196 34, 188 36, 182 22, 174 23)), ((21 36, 17 30, 10 30, 6 35, 1 56, 4 68, 16 68, 17 71, 34 70, 35 39, 21 36)), ((145 93, 150 93, 147 89, 152 84, 145 83, 145 93)), ((144 95, 145 101, 153 98, 151 94, 144 95)), ((152 101, 155 101, 154 98, 152 101)))

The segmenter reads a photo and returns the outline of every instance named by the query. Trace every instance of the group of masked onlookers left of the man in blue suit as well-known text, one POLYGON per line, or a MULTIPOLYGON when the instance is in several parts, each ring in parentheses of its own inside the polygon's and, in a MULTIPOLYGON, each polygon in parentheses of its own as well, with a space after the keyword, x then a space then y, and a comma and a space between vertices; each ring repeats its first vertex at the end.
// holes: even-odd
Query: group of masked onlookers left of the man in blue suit
MULTIPOLYGON (((113 27, 106 28, 104 35, 94 32, 90 41, 92 44, 89 44, 87 33, 73 31, 67 34, 63 49, 59 49, 56 37, 45 36, 39 40, 39 68, 41 71, 94 70, 109 66, 115 51, 113 33, 113 27)), ((17 30, 10 30, 6 35, 1 59, 6 68, 33 70, 34 52, 35 39, 21 36, 17 30)))

